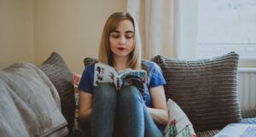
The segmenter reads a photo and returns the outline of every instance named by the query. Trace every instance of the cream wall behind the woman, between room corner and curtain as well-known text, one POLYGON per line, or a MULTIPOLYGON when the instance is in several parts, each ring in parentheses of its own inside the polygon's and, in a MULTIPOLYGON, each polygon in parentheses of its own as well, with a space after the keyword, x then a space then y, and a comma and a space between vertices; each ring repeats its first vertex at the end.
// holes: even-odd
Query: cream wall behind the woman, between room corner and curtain
POLYGON ((82 73, 84 57, 97 57, 108 16, 125 7, 125 0, 34 1, 35 63, 42 63, 55 51, 71 71, 82 73))

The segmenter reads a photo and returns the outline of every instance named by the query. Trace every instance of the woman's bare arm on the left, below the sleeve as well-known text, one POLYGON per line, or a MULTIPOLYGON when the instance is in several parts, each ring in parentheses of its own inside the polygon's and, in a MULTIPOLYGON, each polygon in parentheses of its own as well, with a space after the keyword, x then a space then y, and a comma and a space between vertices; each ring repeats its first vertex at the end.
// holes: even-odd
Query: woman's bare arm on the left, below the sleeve
POLYGON ((92 94, 79 92, 79 122, 85 123, 90 121, 92 94))

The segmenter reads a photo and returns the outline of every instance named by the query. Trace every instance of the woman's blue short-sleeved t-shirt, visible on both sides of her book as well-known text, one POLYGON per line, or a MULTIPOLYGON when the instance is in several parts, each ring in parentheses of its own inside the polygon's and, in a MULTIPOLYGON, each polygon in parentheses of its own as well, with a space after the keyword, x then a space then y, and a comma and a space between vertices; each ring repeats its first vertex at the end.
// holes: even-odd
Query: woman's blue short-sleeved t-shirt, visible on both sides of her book
MULTIPOLYGON (((166 80, 160 70, 160 66, 149 60, 143 60, 143 65, 147 67, 148 81, 146 88, 146 106, 152 107, 151 95, 149 88, 154 88, 166 84, 166 80)), ((93 94, 93 81, 94 81, 94 64, 86 66, 79 83, 79 90, 93 94)))

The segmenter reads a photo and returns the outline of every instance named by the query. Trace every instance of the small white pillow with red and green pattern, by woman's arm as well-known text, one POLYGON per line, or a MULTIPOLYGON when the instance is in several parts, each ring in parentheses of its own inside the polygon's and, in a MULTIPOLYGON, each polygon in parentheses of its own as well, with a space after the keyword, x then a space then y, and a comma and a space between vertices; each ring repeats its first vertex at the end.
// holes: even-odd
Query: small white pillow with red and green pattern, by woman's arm
POLYGON ((169 99, 167 101, 169 120, 165 128, 165 137, 195 137, 195 131, 189 118, 177 104, 169 99))

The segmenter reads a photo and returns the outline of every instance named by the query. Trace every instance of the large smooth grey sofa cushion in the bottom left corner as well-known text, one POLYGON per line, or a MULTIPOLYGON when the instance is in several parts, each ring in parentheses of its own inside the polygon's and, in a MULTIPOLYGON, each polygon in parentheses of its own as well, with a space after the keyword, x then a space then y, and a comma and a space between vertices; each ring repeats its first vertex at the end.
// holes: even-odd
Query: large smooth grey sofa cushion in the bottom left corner
POLYGON ((0 71, 0 136, 65 136, 67 121, 55 86, 37 66, 21 62, 0 71))

